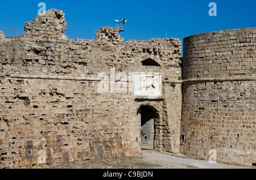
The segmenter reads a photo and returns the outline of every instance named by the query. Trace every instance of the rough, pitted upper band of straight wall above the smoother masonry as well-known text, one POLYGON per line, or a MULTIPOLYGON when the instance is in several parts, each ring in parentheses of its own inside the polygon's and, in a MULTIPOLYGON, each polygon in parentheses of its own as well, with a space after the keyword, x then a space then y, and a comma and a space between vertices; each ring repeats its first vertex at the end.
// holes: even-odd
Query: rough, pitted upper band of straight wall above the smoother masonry
POLYGON ((119 41, 118 45, 100 44, 94 40, 21 38, 0 41, 0 45, 2 65, 63 68, 63 71, 121 68, 137 62, 143 55, 154 56, 163 66, 179 67, 181 53, 181 42, 177 38, 119 41))

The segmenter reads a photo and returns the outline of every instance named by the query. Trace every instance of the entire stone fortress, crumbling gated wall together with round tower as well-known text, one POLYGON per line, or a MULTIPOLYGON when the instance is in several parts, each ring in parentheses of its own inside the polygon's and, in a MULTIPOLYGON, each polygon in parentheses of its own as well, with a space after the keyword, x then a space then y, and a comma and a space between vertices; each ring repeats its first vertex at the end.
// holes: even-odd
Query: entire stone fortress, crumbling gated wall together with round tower
POLYGON ((51 9, 0 32, 0 168, 140 156, 256 163, 256 28, 124 41, 68 40, 51 9))

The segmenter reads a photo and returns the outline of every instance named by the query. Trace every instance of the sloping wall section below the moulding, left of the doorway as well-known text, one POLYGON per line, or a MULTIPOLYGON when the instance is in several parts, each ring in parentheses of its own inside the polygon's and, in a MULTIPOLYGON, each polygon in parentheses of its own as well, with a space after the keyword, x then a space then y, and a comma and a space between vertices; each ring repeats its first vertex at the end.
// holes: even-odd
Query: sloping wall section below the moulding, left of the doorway
POLYGON ((1 78, 1 168, 140 155, 131 95, 97 83, 1 78))

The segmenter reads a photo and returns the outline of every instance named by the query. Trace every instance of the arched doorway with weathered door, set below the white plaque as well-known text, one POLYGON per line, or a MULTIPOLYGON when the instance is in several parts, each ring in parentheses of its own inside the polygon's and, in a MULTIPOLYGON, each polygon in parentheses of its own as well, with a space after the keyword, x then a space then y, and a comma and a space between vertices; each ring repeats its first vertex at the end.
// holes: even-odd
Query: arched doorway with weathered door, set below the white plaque
POLYGON ((141 123, 141 148, 154 149, 154 112, 148 106, 141 106, 138 110, 141 123))

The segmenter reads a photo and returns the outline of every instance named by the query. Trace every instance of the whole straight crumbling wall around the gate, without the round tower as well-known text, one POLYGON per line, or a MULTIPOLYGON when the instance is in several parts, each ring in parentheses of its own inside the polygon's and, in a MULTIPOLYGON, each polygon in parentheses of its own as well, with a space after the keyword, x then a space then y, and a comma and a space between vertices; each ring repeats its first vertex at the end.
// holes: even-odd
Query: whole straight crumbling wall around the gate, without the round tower
MULTIPOLYGON (((35 20, 27 25, 31 32, 43 28, 35 20)), ((49 168, 61 162, 139 156, 141 105, 156 110, 155 149, 179 151, 179 39, 126 42, 112 27, 100 28, 96 40, 43 39, 36 32, 0 41, 1 168, 49 168), (142 66, 147 59, 159 66, 142 66), (104 80, 100 74, 110 80, 110 68, 115 75, 126 74, 125 80, 114 77, 114 84, 126 82, 127 91, 98 91, 104 80), (133 72, 162 74, 162 97, 135 97, 133 72)))

